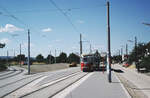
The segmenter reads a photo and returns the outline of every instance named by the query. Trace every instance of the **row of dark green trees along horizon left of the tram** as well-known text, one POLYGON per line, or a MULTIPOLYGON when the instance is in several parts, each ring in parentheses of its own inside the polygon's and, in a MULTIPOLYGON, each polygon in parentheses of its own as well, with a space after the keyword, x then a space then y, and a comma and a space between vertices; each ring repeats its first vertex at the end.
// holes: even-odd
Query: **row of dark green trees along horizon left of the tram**
MULTIPOLYGON (((20 62, 27 61, 27 57, 25 57, 24 54, 17 55, 13 58, 5 58, 0 59, 0 65, 7 65, 7 63, 16 62, 16 64, 19 64, 20 62)), ((30 62, 38 62, 38 63, 46 63, 46 64, 53 64, 53 63, 80 63, 80 57, 74 53, 70 53, 67 57, 67 54, 62 52, 59 56, 54 57, 53 55, 48 55, 46 58, 42 54, 38 54, 35 58, 30 58, 30 62)))

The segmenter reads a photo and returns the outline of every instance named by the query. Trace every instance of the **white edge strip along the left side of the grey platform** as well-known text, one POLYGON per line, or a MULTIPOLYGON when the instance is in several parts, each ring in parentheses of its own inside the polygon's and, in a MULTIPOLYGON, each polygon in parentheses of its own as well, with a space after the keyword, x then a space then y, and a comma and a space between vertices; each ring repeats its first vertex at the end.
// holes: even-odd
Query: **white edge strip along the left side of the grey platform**
POLYGON ((94 73, 89 73, 87 76, 83 77, 82 79, 74 83, 73 85, 67 87, 65 90, 55 95, 53 98, 65 98, 68 94, 70 94, 74 89, 76 89, 80 84, 82 84, 85 80, 87 80, 93 74, 94 73))

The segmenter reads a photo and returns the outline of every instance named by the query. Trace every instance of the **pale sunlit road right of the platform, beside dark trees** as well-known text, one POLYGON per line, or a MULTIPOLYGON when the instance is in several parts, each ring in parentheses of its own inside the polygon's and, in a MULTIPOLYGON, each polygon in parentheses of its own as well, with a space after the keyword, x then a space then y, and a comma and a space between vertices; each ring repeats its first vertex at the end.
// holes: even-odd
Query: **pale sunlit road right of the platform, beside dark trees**
MULTIPOLYGON (((126 80, 134 84, 136 87, 130 87, 136 91, 143 92, 143 97, 150 98, 150 76, 144 75, 142 73, 138 73, 135 68, 129 69, 124 68, 121 65, 115 64, 112 66, 114 69, 120 69, 123 72, 119 73, 126 80)), ((142 98, 143 98, 142 97, 142 98)))

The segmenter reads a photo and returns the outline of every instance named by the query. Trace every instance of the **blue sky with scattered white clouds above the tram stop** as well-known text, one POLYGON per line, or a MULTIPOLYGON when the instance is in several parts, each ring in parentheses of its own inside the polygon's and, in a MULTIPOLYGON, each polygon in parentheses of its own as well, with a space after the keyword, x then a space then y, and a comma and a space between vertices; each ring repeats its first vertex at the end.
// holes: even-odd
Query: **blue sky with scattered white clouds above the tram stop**
MULTIPOLYGON (((106 0, 0 0, 0 56, 27 56, 27 32, 31 33, 31 56, 58 56, 60 52, 79 53, 80 33, 83 53, 107 51, 106 0)), ((128 44, 129 51, 138 42, 150 41, 149 0, 109 0, 111 53, 128 44)), ((125 53, 125 49, 124 49, 125 53)))

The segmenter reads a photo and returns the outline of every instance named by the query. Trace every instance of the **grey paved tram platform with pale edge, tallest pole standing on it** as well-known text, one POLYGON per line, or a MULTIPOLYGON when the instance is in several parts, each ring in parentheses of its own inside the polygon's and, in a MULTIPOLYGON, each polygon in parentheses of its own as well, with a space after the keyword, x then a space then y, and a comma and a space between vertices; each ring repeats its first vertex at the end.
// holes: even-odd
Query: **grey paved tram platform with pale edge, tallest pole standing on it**
POLYGON ((80 81, 55 98, 131 98, 114 72, 112 83, 108 83, 106 72, 92 72, 87 79, 80 81))

